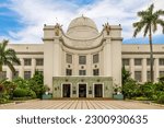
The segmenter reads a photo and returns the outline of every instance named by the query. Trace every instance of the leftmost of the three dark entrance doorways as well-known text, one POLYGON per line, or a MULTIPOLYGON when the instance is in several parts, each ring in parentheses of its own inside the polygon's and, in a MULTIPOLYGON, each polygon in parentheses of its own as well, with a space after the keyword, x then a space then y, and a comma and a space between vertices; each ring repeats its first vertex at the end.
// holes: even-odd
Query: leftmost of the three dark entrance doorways
POLYGON ((62 97, 70 97, 70 91, 71 85, 70 84, 62 84, 62 97))

